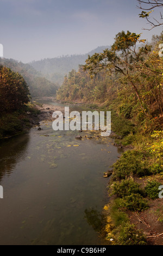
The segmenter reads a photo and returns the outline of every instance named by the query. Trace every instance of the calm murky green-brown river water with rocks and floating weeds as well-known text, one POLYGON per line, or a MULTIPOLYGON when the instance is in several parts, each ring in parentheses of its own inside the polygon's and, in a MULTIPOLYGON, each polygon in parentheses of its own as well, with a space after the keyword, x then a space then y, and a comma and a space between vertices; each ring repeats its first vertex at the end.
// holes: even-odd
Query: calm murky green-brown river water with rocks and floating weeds
POLYGON ((54 131, 49 122, 41 127, 0 145, 0 244, 104 245, 98 234, 108 202, 103 173, 120 156, 114 140, 54 131))

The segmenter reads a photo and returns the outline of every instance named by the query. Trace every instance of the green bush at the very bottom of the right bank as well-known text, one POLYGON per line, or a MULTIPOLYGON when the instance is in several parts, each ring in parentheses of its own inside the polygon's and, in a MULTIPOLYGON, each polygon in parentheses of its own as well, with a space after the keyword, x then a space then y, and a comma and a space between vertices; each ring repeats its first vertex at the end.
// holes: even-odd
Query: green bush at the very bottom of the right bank
POLYGON ((147 245, 146 237, 134 224, 127 224, 121 229, 118 237, 120 245, 147 245))

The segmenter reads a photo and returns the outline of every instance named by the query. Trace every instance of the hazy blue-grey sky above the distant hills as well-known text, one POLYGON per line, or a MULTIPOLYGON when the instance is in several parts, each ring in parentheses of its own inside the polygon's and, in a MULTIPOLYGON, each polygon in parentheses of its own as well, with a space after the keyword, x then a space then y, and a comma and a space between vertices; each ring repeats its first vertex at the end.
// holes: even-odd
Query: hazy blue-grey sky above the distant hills
POLYGON ((145 31, 136 0, 0 0, 0 44, 4 57, 30 62, 66 54, 87 53, 111 45, 122 30, 145 31))

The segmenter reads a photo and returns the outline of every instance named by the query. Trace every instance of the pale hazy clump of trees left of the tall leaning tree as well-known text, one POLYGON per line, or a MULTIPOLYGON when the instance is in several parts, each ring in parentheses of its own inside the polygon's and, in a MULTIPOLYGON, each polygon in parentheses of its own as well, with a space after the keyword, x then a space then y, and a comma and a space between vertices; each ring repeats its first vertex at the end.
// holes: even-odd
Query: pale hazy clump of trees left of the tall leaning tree
MULTIPOLYGON (((58 100, 82 101, 90 103, 101 103, 114 95, 114 88, 111 88, 111 78, 102 72, 91 79, 90 75, 80 66, 78 72, 72 70, 65 76, 64 83, 57 92, 58 100)), ((115 88, 116 90, 116 88, 115 88)))

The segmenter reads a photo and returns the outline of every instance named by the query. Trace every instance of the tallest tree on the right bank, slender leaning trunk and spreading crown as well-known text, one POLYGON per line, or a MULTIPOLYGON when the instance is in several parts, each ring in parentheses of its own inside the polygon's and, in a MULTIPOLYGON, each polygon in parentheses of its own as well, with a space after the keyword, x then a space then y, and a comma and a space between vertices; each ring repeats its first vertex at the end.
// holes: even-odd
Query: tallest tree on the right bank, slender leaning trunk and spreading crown
MULTIPOLYGON (((106 70, 110 74, 112 72, 121 72, 121 74, 127 78, 133 87, 137 99, 139 100, 141 107, 141 96, 137 89, 136 83, 132 79, 131 65, 133 60, 131 59, 131 53, 135 52, 136 42, 139 40, 140 34, 130 33, 124 31, 118 33, 115 37, 115 43, 112 45, 111 50, 105 49, 103 53, 95 53, 93 56, 88 56, 84 69, 88 69, 90 74, 97 74, 101 70, 106 70)), ((145 112, 145 109, 143 109, 145 112)))

